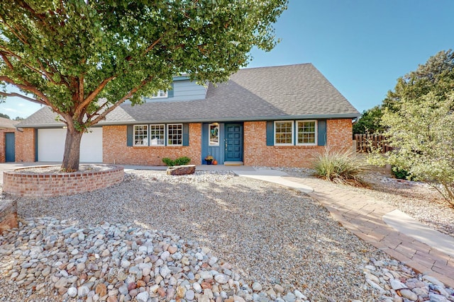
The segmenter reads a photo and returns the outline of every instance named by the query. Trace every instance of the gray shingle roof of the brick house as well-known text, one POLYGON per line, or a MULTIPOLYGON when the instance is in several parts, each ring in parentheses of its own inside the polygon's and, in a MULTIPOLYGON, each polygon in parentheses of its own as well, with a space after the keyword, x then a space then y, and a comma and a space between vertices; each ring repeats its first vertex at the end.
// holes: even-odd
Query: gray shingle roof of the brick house
MULTIPOLYGON (((312 64, 297 64, 240 69, 227 83, 217 87, 210 83, 204 100, 122 104, 99 124, 353 118, 359 115, 312 64)), ((55 114, 43 108, 18 127, 50 126, 50 122, 57 124, 55 114)))

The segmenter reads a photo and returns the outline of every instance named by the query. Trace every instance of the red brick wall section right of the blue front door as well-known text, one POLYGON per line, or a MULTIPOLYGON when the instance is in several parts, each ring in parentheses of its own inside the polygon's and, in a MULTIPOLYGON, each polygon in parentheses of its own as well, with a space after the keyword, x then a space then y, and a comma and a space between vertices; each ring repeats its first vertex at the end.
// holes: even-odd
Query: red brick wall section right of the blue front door
MULTIPOLYGON (((327 146, 350 148, 352 146, 352 121, 326 121, 327 146)), ((309 168, 312 156, 324 146, 267 146, 266 122, 244 123, 244 164, 269 167, 309 168)))

